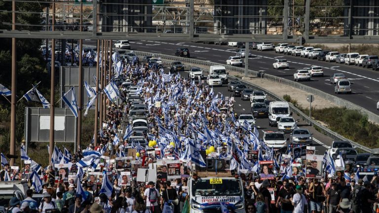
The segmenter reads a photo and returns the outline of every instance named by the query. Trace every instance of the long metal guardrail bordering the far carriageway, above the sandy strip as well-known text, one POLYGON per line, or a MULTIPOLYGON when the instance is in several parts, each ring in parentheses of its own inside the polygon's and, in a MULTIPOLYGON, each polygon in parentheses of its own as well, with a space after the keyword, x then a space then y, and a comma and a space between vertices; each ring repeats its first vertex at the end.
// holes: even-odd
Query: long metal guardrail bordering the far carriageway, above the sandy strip
MULTIPOLYGON (((140 56, 152 55, 152 53, 149 53, 149 52, 140 52, 140 51, 134 51, 134 52, 135 52, 135 54, 140 55, 140 56)), ((162 60, 181 61, 183 63, 190 63, 190 64, 200 65, 200 66, 222 65, 222 66, 225 66, 228 71, 235 71, 235 72, 238 72, 238 73, 241 73, 241 74, 245 73, 245 69, 244 68, 238 68, 238 67, 234 67, 234 66, 230 66, 230 65, 225 65, 225 64, 219 64, 219 63, 214 63, 214 62, 209 62, 209 61, 203 61, 203 60, 197 60, 197 59, 191 59, 191 58, 183 58, 183 57, 177 57, 177 56, 170 56, 170 55, 164 55, 164 54, 155 54, 154 53, 153 55, 156 56, 156 57, 160 57, 162 60)), ((284 84, 284 85, 288 85, 288 86, 300 89, 300 90, 302 90, 304 92, 311 93, 313 95, 317 95, 320 98, 328 100, 328 101, 330 101, 332 103, 335 103, 338 106, 346 107, 348 109, 358 110, 362 114, 367 115, 367 118, 370 121, 379 124, 379 115, 375 114, 374 112, 371 112, 371 111, 369 111, 369 110, 367 110, 365 108, 362 108, 361 106, 353 104, 353 103, 351 103, 349 101, 346 101, 346 100, 341 99, 339 97, 336 97, 334 95, 328 94, 328 93, 323 92, 321 90, 312 88, 310 86, 306 86, 306 85, 303 85, 301 83, 298 83, 298 82, 295 82, 295 81, 292 81, 292 80, 288 80, 288 79, 285 79, 285 78, 282 78, 282 77, 277 77, 275 75, 264 74, 264 73, 262 74, 262 73, 263 72, 260 72, 260 71, 253 71, 253 70, 249 70, 248 71, 249 75, 262 76, 262 78, 265 78, 265 79, 268 79, 268 80, 271 80, 271 81, 275 81, 277 83, 281 83, 281 84, 284 84)))

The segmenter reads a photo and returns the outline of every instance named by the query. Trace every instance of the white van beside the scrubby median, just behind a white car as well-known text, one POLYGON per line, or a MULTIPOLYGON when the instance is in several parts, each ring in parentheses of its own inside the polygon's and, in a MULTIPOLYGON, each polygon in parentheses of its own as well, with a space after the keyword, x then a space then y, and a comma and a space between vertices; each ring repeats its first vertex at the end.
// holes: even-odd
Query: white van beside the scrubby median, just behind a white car
POLYGON ((288 102, 270 102, 268 105, 268 125, 276 126, 281 117, 289 117, 291 115, 288 102))

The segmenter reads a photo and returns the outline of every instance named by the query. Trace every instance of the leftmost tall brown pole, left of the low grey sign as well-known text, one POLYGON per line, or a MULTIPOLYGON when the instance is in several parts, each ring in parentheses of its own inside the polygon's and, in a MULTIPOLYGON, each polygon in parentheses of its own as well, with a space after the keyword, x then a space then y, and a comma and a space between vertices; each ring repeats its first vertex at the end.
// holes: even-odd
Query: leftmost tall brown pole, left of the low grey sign
MULTIPOLYGON (((12 0, 12 31, 16 30, 16 1, 12 0)), ((14 155, 16 146, 16 38, 12 37, 12 88, 10 106, 10 150, 9 154, 14 155)), ((10 159, 10 166, 14 166, 14 158, 10 159)))

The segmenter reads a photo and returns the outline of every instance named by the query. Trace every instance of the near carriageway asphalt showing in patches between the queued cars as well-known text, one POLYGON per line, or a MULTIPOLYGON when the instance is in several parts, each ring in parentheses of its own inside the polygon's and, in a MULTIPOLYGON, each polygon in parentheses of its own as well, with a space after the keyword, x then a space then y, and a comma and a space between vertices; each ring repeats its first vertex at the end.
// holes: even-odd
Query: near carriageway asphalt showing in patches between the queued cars
MULTIPOLYGON (((166 69, 165 71, 168 72, 169 69, 166 69)), ((184 71, 181 72, 181 75, 184 77, 188 76, 188 72, 184 71)), ((204 82, 206 80, 204 79, 204 82)), ((225 97, 231 97, 231 92, 227 91, 227 85, 223 85, 222 87, 214 87, 215 94, 216 93, 222 93, 225 97)), ((237 113, 237 116, 240 114, 251 114, 251 106, 250 101, 242 101, 240 97, 235 97, 235 103, 234 103, 234 110, 235 113, 237 113)), ((316 154, 323 155, 325 151, 327 150, 328 146, 330 146, 333 142, 332 139, 326 137, 325 135, 317 132, 313 127, 309 126, 300 118, 294 114, 293 117, 296 120, 299 120, 298 126, 301 128, 308 129, 311 133, 313 133, 313 145, 316 147, 316 154)), ((237 117, 238 118, 238 117, 237 117)), ((259 137, 262 138, 265 131, 277 131, 277 127, 270 127, 268 126, 268 118, 256 118, 256 125, 259 130, 259 137)), ((287 138, 290 138, 290 134, 286 134, 287 138)))

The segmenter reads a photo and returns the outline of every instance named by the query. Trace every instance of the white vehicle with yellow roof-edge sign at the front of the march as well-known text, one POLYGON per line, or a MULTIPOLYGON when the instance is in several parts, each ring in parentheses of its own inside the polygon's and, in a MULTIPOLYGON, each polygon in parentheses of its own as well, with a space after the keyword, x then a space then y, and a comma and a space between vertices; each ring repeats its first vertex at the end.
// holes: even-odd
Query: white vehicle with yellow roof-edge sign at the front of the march
POLYGON ((229 212, 244 213, 244 187, 240 178, 189 178, 189 213, 220 212, 221 204, 229 212))

